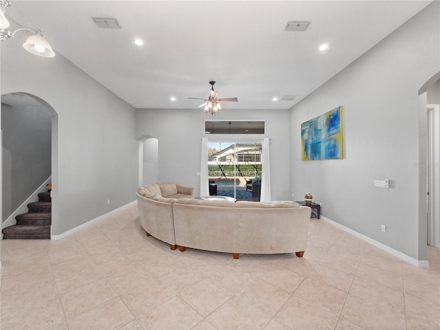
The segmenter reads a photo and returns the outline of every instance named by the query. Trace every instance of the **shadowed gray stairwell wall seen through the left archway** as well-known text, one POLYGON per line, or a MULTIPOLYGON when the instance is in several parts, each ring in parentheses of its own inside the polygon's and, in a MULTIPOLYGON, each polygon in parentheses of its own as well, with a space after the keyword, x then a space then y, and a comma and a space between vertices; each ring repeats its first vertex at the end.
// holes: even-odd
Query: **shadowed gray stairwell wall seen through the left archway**
POLYGON ((41 106, 1 104, 2 221, 50 177, 50 112, 41 106))

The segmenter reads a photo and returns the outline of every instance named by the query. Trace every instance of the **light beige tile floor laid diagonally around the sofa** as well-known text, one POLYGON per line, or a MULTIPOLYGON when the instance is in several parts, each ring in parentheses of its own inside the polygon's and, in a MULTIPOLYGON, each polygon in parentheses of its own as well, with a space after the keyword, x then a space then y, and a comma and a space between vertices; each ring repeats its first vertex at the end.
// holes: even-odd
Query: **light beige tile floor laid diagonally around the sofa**
POLYGON ((440 329, 440 251, 419 269, 317 219, 307 250, 146 237, 137 206, 58 241, 1 241, 1 330, 440 329))

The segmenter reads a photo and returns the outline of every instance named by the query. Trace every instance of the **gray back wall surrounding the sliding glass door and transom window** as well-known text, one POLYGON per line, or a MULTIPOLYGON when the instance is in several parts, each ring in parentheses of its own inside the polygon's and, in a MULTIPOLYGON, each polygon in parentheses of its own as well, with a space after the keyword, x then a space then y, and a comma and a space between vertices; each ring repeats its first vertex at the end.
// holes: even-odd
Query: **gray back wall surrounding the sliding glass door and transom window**
POLYGON ((159 144, 158 181, 195 187, 199 195, 201 138, 241 142, 269 137, 272 199, 292 199, 289 192, 289 111, 223 109, 214 118, 203 109, 137 109, 136 137, 151 135, 159 144), (205 120, 266 120, 265 135, 205 135, 205 120))

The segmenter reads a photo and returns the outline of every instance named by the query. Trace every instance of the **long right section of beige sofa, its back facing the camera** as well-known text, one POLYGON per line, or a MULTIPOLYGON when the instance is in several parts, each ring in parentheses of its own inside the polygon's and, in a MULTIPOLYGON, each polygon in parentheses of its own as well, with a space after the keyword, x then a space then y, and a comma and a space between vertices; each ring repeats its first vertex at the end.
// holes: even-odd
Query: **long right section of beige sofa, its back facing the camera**
POLYGON ((213 201, 173 203, 175 241, 186 248, 239 254, 296 252, 303 256, 311 208, 293 201, 213 201))

